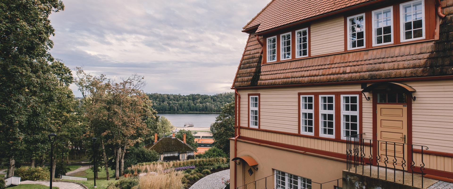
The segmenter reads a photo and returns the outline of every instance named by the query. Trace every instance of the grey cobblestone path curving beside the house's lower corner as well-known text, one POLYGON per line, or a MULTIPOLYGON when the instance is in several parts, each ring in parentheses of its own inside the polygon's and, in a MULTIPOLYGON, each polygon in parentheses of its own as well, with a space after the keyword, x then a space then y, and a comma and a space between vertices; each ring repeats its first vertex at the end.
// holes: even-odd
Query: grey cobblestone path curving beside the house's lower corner
POLYGON ((230 170, 209 174, 198 180, 189 189, 224 189, 225 184, 222 183, 222 179, 230 179, 230 170))

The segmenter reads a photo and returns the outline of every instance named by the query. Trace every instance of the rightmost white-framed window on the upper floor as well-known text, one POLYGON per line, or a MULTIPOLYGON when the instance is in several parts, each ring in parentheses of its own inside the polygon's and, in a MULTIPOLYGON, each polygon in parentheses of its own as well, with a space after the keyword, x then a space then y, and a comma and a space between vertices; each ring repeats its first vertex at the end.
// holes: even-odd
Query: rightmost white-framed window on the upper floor
POLYGON ((401 41, 424 39, 424 0, 400 4, 401 41))

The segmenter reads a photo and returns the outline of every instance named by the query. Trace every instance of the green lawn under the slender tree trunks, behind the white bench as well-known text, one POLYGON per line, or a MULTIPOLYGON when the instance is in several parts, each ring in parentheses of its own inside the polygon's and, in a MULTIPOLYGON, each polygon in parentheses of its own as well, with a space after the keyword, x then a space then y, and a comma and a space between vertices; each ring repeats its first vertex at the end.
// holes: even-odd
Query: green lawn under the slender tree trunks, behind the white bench
MULTIPOLYGON (((107 184, 109 184, 110 182, 117 182, 117 180, 115 180, 115 175, 114 175, 115 170, 110 170, 109 174, 110 174, 109 175, 110 180, 106 180, 107 176, 106 176, 106 171, 104 169, 102 169, 100 172, 97 173, 97 176, 99 178, 96 179, 96 186, 98 189, 106 189, 107 184)), ((85 170, 84 173, 77 173, 76 175, 74 175, 77 177, 87 178, 87 181, 82 181, 82 180, 68 180, 68 181, 75 181, 78 183, 82 183, 82 184, 85 184, 85 186, 87 186, 89 189, 92 189, 94 186, 93 175, 94 175, 93 171, 90 169, 87 169, 87 170, 85 170)))

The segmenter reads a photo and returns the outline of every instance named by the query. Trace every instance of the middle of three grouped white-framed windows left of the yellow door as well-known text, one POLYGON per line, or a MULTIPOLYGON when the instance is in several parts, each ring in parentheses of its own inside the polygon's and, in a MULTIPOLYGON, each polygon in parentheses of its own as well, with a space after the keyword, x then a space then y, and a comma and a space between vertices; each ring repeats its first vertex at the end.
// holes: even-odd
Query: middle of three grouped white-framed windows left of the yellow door
POLYGON ((335 138, 335 95, 319 95, 319 136, 335 138))

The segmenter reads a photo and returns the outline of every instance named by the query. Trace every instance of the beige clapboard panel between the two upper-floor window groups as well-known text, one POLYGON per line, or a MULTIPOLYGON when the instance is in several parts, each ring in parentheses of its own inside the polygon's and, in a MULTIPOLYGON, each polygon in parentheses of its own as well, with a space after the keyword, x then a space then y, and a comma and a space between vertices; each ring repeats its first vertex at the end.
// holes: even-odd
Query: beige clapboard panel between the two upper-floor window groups
POLYGON ((344 18, 337 17, 310 26, 311 55, 344 50, 344 18))

